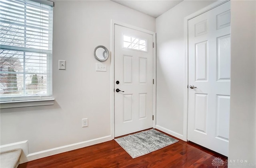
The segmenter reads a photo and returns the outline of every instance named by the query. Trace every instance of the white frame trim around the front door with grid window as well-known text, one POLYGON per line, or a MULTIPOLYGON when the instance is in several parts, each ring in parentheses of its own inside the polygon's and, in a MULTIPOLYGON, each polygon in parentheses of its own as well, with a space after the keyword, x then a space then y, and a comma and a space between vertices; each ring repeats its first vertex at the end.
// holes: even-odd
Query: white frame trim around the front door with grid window
MULTIPOLYGON (((152 122, 152 127, 156 128, 156 33, 153 31, 149 31, 146 29, 142 29, 140 27, 136 27, 134 25, 130 25, 127 23, 123 23, 120 21, 116 20, 111 20, 111 51, 110 51, 110 58, 111 58, 111 83, 110 83, 110 92, 111 92, 111 115, 110 115, 110 124, 111 124, 111 137, 114 139, 114 26, 115 25, 120 25, 122 27, 127 27, 130 29, 142 31, 144 33, 148 33, 150 35, 153 35, 153 42, 154 42, 154 48, 153 48, 153 79, 154 79, 154 84, 153 84, 153 115, 154 115, 154 120, 152 122)), ((153 81, 152 81, 153 82, 153 81)))

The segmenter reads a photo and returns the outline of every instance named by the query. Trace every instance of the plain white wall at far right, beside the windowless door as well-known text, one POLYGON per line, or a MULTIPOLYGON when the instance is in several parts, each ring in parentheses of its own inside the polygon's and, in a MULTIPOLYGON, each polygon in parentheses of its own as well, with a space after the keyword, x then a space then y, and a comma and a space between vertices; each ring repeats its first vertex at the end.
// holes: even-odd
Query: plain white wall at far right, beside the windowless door
POLYGON ((255 136, 256 1, 231 1, 229 167, 256 167, 255 136))

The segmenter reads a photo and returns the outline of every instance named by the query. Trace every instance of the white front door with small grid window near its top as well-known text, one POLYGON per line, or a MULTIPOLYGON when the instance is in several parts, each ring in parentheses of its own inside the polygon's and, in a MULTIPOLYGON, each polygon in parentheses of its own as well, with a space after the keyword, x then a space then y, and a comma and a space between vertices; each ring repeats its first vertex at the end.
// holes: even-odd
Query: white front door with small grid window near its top
POLYGON ((153 126, 152 44, 153 35, 114 27, 115 137, 153 126))

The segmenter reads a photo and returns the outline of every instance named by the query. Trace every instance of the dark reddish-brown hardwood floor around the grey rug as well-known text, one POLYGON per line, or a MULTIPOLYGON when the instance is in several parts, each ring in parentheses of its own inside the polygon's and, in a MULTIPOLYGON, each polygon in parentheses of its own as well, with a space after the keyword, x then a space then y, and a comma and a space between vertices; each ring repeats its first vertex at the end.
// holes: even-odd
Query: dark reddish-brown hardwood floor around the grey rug
MULTIPOLYGON (((112 140, 26 162, 18 168, 217 168, 212 166, 214 158, 221 158, 224 162, 227 159, 194 143, 178 140, 134 159, 112 140)), ((226 163, 218 166, 227 167, 226 163)))

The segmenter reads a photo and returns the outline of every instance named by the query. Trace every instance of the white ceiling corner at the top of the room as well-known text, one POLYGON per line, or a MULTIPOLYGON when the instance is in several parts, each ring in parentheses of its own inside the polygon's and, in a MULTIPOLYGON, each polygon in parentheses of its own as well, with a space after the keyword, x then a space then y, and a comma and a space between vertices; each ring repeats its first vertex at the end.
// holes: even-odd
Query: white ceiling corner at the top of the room
POLYGON ((183 0, 112 0, 154 18, 173 8, 183 0))

